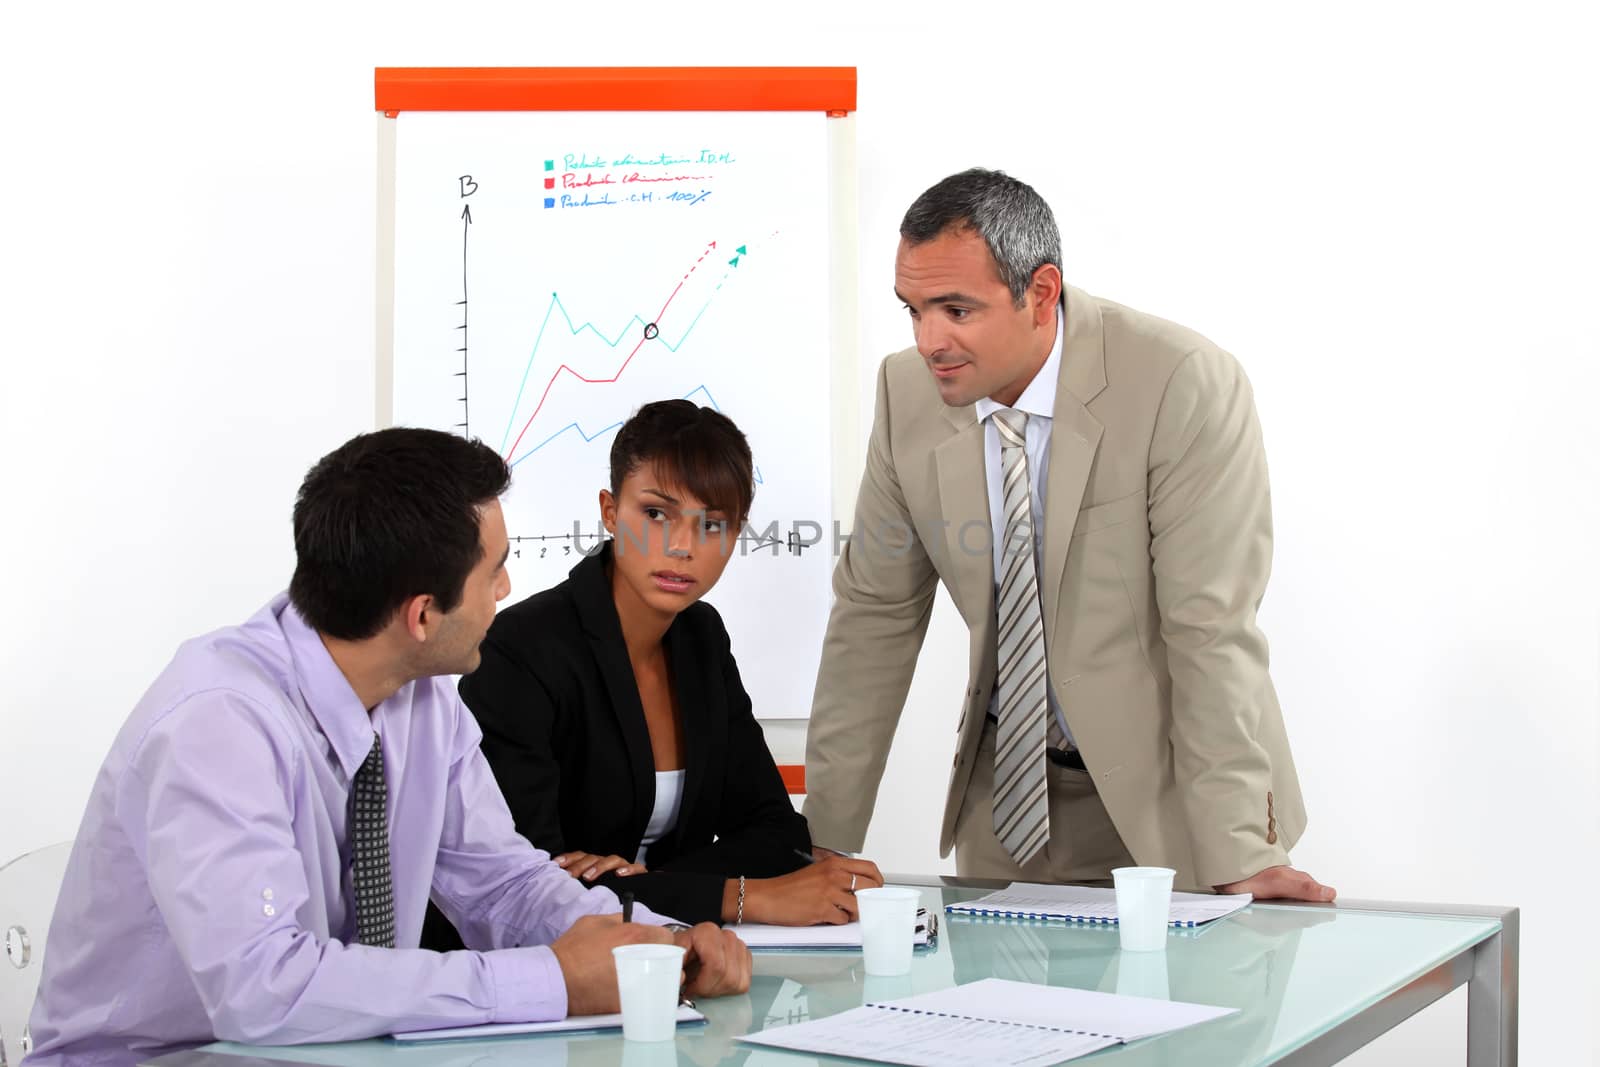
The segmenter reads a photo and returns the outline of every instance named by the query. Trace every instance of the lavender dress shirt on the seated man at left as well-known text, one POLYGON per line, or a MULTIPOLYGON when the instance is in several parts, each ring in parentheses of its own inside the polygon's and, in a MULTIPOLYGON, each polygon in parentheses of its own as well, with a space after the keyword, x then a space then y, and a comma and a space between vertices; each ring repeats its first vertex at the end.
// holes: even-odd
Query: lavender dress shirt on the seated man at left
POLYGON ((27 1062, 563 1017, 547 945, 618 901, 512 829, 480 736, 448 678, 368 715, 286 595, 182 645, 94 779, 27 1062), (395 949, 350 944, 349 795, 374 731, 395 949), (430 894, 470 950, 416 949, 430 894))

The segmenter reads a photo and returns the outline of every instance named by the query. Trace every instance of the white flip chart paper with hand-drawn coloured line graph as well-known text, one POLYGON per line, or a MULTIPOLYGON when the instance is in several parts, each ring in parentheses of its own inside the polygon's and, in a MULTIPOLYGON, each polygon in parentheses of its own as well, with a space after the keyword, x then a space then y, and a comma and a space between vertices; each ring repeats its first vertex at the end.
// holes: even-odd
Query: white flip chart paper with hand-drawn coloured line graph
POLYGON ((826 123, 565 112, 400 123, 390 418, 483 438, 514 469, 501 499, 512 601, 565 579, 606 536, 611 442, 640 405, 722 411, 749 440, 758 493, 709 601, 736 635, 752 699, 768 715, 803 713, 842 542, 826 123), (726 160, 714 173, 678 163, 702 150, 726 160), (693 173, 715 195, 658 210, 656 186, 648 205, 571 211, 555 197, 566 171, 574 184, 610 178, 614 195, 635 170, 693 173), (782 640, 766 641, 774 621, 782 640))

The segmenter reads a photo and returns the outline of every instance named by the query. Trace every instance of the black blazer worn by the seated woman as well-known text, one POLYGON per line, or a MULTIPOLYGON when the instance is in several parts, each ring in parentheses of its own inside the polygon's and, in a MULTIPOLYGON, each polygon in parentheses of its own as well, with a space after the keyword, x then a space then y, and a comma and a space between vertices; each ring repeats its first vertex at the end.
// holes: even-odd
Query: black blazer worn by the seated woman
MULTIPOLYGON (((634 859, 656 803, 656 763, 611 600, 610 558, 605 545, 560 585, 501 611, 483 662, 461 680, 517 830, 550 854, 634 859)), ((661 915, 715 923, 730 877, 802 867, 795 853, 810 854, 811 835, 750 713, 717 609, 691 605, 662 640, 683 715, 678 821, 650 846, 648 873, 595 885, 630 889, 661 915)))

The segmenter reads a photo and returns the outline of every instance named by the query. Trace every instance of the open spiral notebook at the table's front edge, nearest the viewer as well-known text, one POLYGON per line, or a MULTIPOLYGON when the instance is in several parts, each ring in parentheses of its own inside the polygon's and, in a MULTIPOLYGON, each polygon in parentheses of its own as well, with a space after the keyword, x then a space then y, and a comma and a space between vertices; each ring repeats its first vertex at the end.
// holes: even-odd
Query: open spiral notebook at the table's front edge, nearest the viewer
POLYGON ((986 977, 738 1040, 909 1067, 1021 1067, 1059 1064, 1235 1011, 986 977))

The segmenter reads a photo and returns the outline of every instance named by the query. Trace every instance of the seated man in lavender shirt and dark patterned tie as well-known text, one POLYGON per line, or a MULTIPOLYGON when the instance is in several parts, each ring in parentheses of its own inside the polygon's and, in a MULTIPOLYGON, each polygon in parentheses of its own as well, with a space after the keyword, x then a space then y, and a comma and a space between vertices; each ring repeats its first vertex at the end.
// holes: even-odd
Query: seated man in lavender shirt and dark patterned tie
POLYGON ((443 677, 478 665, 510 592, 509 480, 482 443, 418 429, 365 434, 312 467, 290 592, 182 645, 101 766, 30 1065, 616 1011, 611 949, 640 941, 688 950, 690 993, 749 989, 731 933, 670 931, 642 907, 624 925, 610 891, 512 829, 443 677), (390 891, 382 933, 365 915, 362 944, 350 793, 374 737, 390 891), (416 947, 429 897, 469 950, 416 947))

